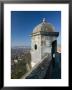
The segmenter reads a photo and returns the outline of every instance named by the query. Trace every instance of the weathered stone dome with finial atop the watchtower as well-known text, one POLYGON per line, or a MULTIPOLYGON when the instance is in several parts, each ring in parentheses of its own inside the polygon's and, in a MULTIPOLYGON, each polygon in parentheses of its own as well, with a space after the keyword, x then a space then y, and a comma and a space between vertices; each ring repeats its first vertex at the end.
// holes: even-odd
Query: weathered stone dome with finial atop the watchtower
POLYGON ((43 18, 43 22, 40 23, 39 25, 37 25, 34 29, 33 29, 33 33, 38 33, 40 31, 44 31, 44 32, 54 32, 54 26, 48 22, 45 21, 45 18, 43 18))

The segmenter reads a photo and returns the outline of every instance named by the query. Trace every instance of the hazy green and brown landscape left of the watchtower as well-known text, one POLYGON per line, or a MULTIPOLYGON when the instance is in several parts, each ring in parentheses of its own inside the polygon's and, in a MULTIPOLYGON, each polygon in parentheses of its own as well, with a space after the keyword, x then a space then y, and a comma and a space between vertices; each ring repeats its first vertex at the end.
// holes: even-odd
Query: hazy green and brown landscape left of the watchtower
POLYGON ((17 46, 11 48, 11 78, 18 79, 31 69, 30 47, 17 46), (17 61, 17 63, 15 63, 17 61))

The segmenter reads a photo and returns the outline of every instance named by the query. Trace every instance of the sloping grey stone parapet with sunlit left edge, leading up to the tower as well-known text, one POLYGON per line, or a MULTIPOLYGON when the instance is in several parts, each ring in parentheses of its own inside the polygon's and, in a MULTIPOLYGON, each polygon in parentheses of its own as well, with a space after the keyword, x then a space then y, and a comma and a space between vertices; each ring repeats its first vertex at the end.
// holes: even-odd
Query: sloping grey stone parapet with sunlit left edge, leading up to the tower
POLYGON ((51 61, 51 56, 46 56, 42 62, 39 62, 34 66, 34 68, 24 75, 22 78, 24 79, 43 79, 46 75, 46 71, 48 70, 48 66, 51 61))

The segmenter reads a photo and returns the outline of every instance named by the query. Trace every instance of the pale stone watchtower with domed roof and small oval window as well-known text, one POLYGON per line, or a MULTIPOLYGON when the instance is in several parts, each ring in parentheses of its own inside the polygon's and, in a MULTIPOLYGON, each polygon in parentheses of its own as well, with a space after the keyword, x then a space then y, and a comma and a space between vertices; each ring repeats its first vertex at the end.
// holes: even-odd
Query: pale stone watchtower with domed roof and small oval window
POLYGON ((31 59, 38 63, 45 56, 55 56, 57 48, 57 36, 59 32, 54 32, 54 26, 48 23, 45 18, 37 25, 32 32, 31 39, 31 59))

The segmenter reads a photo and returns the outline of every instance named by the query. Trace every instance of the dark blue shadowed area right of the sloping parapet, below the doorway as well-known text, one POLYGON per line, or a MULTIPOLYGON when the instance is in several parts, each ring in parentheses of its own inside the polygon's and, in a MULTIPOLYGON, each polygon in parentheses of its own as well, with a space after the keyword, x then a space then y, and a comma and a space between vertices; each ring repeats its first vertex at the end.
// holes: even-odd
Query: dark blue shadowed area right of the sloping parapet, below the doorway
POLYGON ((56 53, 56 57, 51 61, 44 79, 61 79, 61 53, 56 53))

